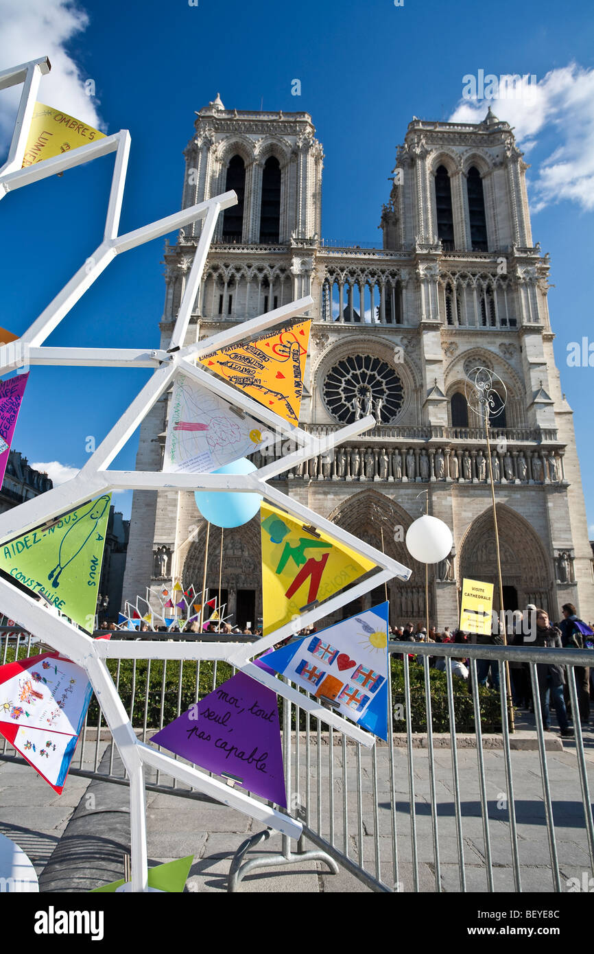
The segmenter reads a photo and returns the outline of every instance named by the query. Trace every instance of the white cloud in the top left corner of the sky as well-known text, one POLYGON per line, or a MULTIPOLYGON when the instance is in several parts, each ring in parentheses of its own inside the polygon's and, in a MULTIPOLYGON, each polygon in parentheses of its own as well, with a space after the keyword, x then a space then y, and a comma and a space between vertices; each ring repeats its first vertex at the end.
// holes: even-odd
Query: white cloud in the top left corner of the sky
MULTIPOLYGON (((66 52, 66 44, 88 25, 88 14, 73 0, 0 0, 0 63, 5 70, 48 56, 51 72, 42 78, 37 99, 101 128, 104 124, 97 113, 98 101, 85 92, 85 80, 92 77, 81 73, 66 52)), ((22 85, 14 86, 0 93, 3 151, 10 143, 22 89, 22 85)))

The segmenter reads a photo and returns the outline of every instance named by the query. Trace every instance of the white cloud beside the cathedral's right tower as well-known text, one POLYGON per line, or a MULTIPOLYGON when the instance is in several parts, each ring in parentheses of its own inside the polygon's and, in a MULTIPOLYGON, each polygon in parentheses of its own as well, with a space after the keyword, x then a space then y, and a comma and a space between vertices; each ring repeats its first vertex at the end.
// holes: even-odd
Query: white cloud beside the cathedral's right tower
POLYGON ((526 83, 520 98, 509 92, 490 100, 461 99, 449 121, 481 122, 490 105, 514 127, 524 153, 552 134, 555 147, 530 178, 532 212, 562 199, 587 212, 594 210, 594 69, 570 63, 546 73, 536 84, 526 83))

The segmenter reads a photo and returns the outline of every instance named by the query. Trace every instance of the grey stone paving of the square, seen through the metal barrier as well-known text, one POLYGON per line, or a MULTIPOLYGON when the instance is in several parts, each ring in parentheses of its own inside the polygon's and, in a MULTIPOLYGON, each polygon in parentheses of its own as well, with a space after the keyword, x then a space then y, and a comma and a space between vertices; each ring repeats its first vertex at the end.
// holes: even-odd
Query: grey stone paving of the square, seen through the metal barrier
MULTIPOLYGON (((547 739, 554 734, 547 734, 547 739)), ((556 740, 558 736, 555 736, 556 740)), ((559 744, 559 743, 557 743, 559 744)), ((100 770, 109 769, 107 743, 100 743, 103 755, 100 770)), ((89 756, 94 757, 94 745, 89 756)), ((584 751, 591 790, 594 786, 594 735, 584 736, 584 751)), ((396 805, 392 810, 389 787, 389 752, 378 747, 377 780, 374 756, 362 752, 360 776, 354 746, 310 746, 309 766, 305 746, 300 745, 298 784, 295 757, 294 793, 297 804, 309 800, 310 827, 326 839, 334 838, 339 850, 359 860, 359 829, 365 869, 392 887, 395 881, 404 892, 415 889, 413 840, 409 798, 409 766, 405 748, 395 747, 394 773, 396 805), (343 765, 343 752, 346 763, 343 765), (360 778, 360 781, 359 781, 360 778), (321 815, 317 823, 317 791, 321 815), (331 781, 332 780, 332 781, 331 781), (344 801, 346 780, 347 798, 344 801), (309 783, 309 788, 308 788, 309 783), (360 812, 358 790, 360 790, 360 812), (332 792, 332 798, 330 798, 332 792), (377 795, 377 809, 375 795, 377 795), (331 836, 330 818, 333 817, 331 836), (398 878, 394 874, 392 825, 396 825, 398 878), (345 824, 346 822, 346 824, 345 824), (378 837, 376 838, 376 832, 378 837)), ((483 751, 485 789, 488 803, 488 832, 496 891, 514 890, 511 866, 509 810, 505 764, 502 750, 483 751)), ((563 749, 547 751, 553 816, 562 890, 569 878, 590 877, 584 808, 577 768, 575 743, 563 740, 563 749)), ((549 844, 544 824, 543 783, 538 751, 512 751, 514 805, 516 811, 522 890, 550 892, 553 889, 549 844)), ((118 762, 114 762, 118 771, 118 762)), ((486 847, 481 818, 481 790, 477 750, 458 751, 460 777, 462 849, 466 890, 486 891, 486 847)), ((92 769, 86 762, 83 768, 92 769)), ((413 751, 415 784, 415 825, 420 891, 436 890, 436 854, 432 830, 431 782, 427 749, 413 751)), ((461 890, 458 839, 455 816, 451 750, 435 751, 435 790, 440 855, 440 887, 447 892, 461 890)), ((149 778, 149 780, 154 780, 149 778)), ((161 778, 161 784, 166 779, 161 778)), ((294 800, 295 804, 295 800, 294 800)), ((151 863, 171 861, 194 854, 187 890, 220 892, 227 889, 229 865, 241 843, 261 830, 260 823, 239 812, 204 800, 179 798, 149 792, 147 796, 147 838, 151 863)), ((130 846, 128 790, 93 779, 70 775, 62 796, 57 796, 29 766, 0 757, 0 831, 17 841, 29 854, 43 891, 89 890, 99 883, 123 875, 123 855, 130 846)), ((314 848, 306 842, 306 848, 314 848)), ((279 835, 246 855, 277 855, 282 848, 279 835)), ((292 842, 292 849, 296 850, 292 842)), ((307 858, 287 866, 248 874, 241 891, 336 892, 367 891, 369 888, 340 868, 330 874, 320 861, 307 858)))

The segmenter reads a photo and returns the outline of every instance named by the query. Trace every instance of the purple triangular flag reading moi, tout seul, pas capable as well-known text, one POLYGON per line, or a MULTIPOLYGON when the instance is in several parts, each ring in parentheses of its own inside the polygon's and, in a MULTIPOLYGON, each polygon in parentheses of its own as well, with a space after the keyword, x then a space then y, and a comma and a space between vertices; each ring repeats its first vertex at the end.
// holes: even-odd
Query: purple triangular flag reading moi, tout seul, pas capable
POLYGON ((223 682, 151 741, 287 807, 277 694, 245 673, 223 682))

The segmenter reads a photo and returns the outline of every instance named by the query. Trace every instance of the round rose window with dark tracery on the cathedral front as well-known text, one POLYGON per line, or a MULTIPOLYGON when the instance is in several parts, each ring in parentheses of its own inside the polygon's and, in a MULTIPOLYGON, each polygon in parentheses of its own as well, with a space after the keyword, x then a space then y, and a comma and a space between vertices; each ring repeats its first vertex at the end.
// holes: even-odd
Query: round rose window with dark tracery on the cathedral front
POLYGON ((404 391, 394 368, 371 355, 350 355, 330 369, 323 384, 326 406, 338 421, 352 424, 373 414, 380 424, 393 421, 404 391))

